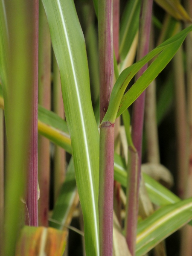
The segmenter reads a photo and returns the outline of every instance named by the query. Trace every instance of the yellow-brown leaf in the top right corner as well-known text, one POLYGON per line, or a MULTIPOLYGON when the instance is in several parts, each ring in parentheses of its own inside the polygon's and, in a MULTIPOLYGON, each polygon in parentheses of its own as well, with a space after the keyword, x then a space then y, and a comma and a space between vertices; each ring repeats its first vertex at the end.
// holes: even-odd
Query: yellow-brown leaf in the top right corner
POLYGON ((192 22, 179 0, 155 0, 155 2, 175 19, 192 22))

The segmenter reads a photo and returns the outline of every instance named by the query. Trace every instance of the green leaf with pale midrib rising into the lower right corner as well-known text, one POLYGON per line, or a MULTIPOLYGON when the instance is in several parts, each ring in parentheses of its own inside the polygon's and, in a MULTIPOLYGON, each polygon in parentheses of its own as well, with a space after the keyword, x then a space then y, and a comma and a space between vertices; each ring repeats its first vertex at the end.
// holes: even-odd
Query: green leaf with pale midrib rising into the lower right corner
POLYGON ((192 219, 192 198, 158 209, 137 227, 136 256, 142 256, 192 219))

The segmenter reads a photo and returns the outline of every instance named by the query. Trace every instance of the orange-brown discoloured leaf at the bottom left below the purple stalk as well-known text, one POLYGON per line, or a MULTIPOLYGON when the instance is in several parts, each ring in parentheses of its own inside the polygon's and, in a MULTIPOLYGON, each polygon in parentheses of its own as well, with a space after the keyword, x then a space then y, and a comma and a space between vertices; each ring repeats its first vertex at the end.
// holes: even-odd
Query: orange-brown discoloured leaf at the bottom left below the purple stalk
POLYGON ((62 256, 66 238, 67 231, 24 226, 17 241, 15 256, 62 256))

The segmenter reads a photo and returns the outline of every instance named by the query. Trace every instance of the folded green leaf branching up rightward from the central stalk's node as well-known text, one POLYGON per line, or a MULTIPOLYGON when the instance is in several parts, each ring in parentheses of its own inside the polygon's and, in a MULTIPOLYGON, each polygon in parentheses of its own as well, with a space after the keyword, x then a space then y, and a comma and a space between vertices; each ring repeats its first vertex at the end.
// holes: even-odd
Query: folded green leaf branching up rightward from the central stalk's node
POLYGON ((158 74, 173 58, 180 45, 186 38, 186 35, 190 31, 192 31, 192 26, 189 26, 188 28, 179 32, 177 35, 169 38, 163 44, 160 44, 160 46, 156 47, 145 55, 145 57, 143 57, 140 61, 123 70, 113 87, 108 111, 105 114, 102 122, 108 121, 113 123, 116 117, 120 116, 137 99, 137 97, 140 96, 151 81, 158 76, 158 74), (123 96, 128 83, 135 76, 135 74, 157 54, 159 54, 158 57, 123 96))

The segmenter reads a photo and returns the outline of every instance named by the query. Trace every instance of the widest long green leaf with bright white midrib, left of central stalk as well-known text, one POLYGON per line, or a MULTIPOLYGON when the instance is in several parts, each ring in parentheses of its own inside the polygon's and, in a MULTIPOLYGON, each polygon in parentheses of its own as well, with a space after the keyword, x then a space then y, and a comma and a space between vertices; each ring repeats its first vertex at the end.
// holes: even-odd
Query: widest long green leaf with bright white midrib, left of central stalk
POLYGON ((99 255, 99 131, 90 98, 84 37, 73 1, 43 0, 61 76, 87 255, 99 255))

